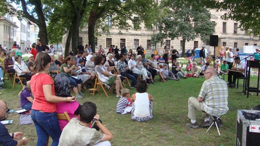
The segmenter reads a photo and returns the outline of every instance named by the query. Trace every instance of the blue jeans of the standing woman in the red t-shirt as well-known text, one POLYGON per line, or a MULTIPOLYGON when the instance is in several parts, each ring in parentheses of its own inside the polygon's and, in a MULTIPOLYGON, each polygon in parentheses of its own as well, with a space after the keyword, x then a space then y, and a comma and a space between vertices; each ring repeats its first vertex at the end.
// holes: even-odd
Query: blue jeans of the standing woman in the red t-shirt
POLYGON ((38 136, 37 146, 46 146, 48 135, 52 138, 51 146, 58 146, 61 129, 56 112, 43 113, 32 109, 31 117, 38 136))

